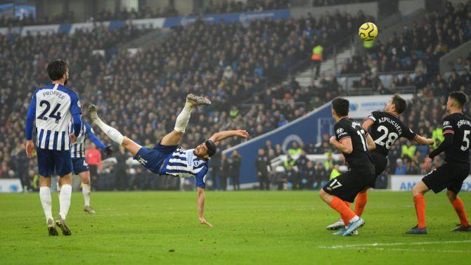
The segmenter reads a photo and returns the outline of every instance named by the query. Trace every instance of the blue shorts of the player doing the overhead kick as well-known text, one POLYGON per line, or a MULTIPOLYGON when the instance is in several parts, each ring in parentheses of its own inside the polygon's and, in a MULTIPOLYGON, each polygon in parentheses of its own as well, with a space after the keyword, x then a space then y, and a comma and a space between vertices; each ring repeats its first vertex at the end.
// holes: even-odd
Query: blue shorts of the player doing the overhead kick
POLYGON ((159 174, 160 167, 165 158, 172 155, 178 147, 179 146, 162 146, 160 143, 157 143, 153 149, 141 147, 133 158, 134 160, 138 160, 138 162, 150 172, 159 174))

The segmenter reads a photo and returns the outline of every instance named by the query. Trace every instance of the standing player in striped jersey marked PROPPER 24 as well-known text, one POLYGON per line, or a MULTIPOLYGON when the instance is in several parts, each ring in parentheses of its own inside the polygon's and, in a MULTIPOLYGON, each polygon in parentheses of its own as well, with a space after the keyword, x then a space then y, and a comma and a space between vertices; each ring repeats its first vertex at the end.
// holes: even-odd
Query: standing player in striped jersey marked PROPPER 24
POLYGON ((64 235, 70 235, 65 224, 72 193, 72 160, 70 143, 74 143, 82 127, 82 110, 77 93, 67 88, 69 67, 63 60, 55 60, 47 66, 52 84, 34 91, 26 117, 26 153, 32 157, 33 123, 36 121, 36 146, 39 169, 39 198, 46 215, 49 235, 58 235, 51 209, 51 176, 54 172, 62 179, 63 188, 59 194, 59 217, 56 225, 64 235), (69 134, 69 121, 73 119, 75 133, 69 134))

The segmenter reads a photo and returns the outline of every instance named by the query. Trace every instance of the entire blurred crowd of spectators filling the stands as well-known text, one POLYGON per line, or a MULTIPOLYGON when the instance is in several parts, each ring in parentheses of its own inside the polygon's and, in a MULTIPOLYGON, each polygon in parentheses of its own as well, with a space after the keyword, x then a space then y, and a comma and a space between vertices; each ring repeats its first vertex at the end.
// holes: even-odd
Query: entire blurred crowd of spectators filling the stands
MULTIPOLYGON (((312 1, 312 4, 342 2, 312 1)), ((283 0, 226 3, 211 5, 203 12, 260 11, 290 5, 283 0)), ((137 12, 105 12, 93 20, 177 15, 172 12, 143 8, 137 12)), ((73 15, 65 17, 73 19, 73 15)), ((348 58, 338 75, 321 73, 309 86, 301 86, 292 77, 295 74, 292 68, 306 69, 314 46, 328 47, 342 37, 353 36, 359 25, 370 18, 362 12, 337 11, 316 17, 265 19, 247 24, 197 20, 186 27, 173 27, 162 44, 135 53, 122 49, 122 44, 154 29, 124 23, 120 29, 109 30, 96 22, 93 30, 77 30, 73 34, 0 34, 0 138, 4 139, 0 141, 0 178, 18 177, 25 186, 37 188, 37 162, 28 160, 24 150, 24 119, 34 89, 49 83, 47 63, 56 58, 69 63, 68 85, 77 91, 82 105, 98 105, 103 120, 142 146, 154 146, 173 129, 187 93, 202 94, 214 103, 192 114, 182 146, 193 148, 224 129, 247 129, 256 137, 282 127, 335 96, 348 95, 350 90, 344 88, 339 77, 359 73, 361 78, 354 87, 373 87, 377 94, 396 93, 397 86, 414 86, 413 101, 401 119, 415 132, 434 138, 438 144, 442 140, 440 123, 447 94, 458 90, 471 94, 471 53, 458 58, 449 75, 441 75, 438 67, 441 55, 471 39, 471 4, 469 1, 454 7, 447 4, 444 13, 428 13, 426 18, 423 25, 405 28, 386 44, 378 41, 366 50, 366 56, 348 58), (385 86, 380 73, 392 71, 393 81, 385 86)), ((0 24, 73 22, 57 19, 22 20, 20 24, 3 19, 0 24)), ((465 110, 469 109, 468 104, 465 110)), ((84 121, 89 121, 86 108, 84 121)), ((110 143, 98 129, 96 134, 103 142, 110 143)), ((295 143, 288 150, 282 150, 281 143, 266 143, 255 161, 259 187, 321 187, 339 172, 342 163, 332 159, 334 150, 328 144, 328 135, 322 138, 320 143, 295 143), (311 154, 325 154, 330 158, 316 164, 307 159, 311 154), (283 176, 276 176, 269 163, 279 155, 289 157, 283 164, 283 176)), ((238 143, 240 140, 230 139, 219 149, 238 143)), ((436 146, 397 141, 388 156, 387 174, 424 174, 423 157, 436 146)), ((90 148, 95 148, 93 143, 90 148)), ((115 146, 114 156, 119 163, 94 176, 96 189, 154 189, 175 184, 155 178, 141 167, 127 167, 124 161, 131 155, 122 148, 115 146)), ((436 158, 435 165, 440 163, 439 157, 436 158)), ((212 159, 209 171, 212 188, 240 188, 239 169, 239 154, 226 157, 219 153, 212 159)))

